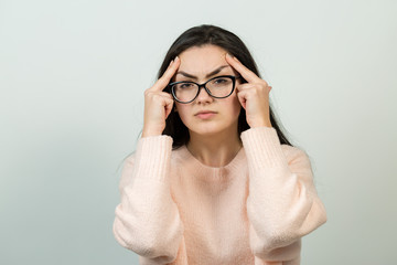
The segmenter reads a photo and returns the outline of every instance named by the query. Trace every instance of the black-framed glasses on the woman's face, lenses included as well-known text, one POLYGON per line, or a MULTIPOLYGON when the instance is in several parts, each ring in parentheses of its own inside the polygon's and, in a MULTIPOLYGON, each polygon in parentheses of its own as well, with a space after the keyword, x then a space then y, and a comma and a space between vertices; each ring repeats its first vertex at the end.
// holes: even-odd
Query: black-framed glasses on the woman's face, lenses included
POLYGON ((210 96, 225 98, 232 95, 236 86, 236 80, 240 76, 222 75, 208 80, 204 84, 192 81, 181 81, 169 84, 173 98, 179 103, 191 103, 200 94, 202 87, 210 96))

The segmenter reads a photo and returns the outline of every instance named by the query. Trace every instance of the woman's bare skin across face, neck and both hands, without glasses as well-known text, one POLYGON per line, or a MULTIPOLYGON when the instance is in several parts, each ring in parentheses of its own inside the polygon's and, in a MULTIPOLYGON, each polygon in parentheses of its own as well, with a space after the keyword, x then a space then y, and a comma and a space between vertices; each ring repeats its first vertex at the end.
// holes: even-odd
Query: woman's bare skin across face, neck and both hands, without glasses
POLYGON ((245 67, 237 59, 216 45, 193 46, 173 60, 163 76, 144 92, 144 118, 142 137, 159 136, 165 128, 165 118, 171 112, 179 112, 189 128, 189 151, 202 163, 223 167, 242 148, 237 131, 240 108, 246 110, 251 128, 271 127, 269 116, 269 92, 271 86, 245 67), (219 66, 218 73, 207 76, 219 66), (195 76, 186 77, 181 72, 195 76), (170 81, 194 81, 198 84, 218 75, 242 75, 248 83, 236 82, 234 93, 227 98, 213 98, 205 89, 190 104, 173 100, 172 95, 162 92, 170 81), (175 109, 173 110, 173 106, 175 109), (203 119, 198 112, 212 110, 215 115, 203 119))

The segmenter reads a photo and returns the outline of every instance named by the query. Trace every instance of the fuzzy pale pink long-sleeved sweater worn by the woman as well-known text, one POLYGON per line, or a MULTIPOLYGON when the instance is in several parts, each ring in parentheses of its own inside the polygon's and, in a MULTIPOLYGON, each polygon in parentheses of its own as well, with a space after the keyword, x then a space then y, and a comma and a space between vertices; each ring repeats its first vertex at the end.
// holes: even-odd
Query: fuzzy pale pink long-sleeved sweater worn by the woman
POLYGON ((300 264, 301 237, 326 222, 307 153, 272 127, 242 134, 225 167, 172 138, 141 138, 120 180, 114 234, 140 264, 300 264))

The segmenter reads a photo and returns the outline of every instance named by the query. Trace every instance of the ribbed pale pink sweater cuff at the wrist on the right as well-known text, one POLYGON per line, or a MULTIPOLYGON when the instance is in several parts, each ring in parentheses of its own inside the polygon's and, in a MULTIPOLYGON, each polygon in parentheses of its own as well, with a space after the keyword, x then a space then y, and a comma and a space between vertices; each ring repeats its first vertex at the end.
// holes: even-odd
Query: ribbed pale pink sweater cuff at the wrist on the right
POLYGON ((258 167, 288 166, 280 139, 273 127, 256 127, 242 132, 248 161, 258 167))

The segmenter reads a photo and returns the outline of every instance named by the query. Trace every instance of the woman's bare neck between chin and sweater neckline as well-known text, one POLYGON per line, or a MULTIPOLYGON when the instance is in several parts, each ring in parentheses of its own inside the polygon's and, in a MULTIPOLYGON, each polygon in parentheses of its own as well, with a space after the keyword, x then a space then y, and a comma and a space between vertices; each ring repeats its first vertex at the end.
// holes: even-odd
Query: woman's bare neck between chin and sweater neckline
POLYGON ((236 131, 233 136, 228 131, 203 136, 190 131, 187 150, 202 163, 210 167, 224 167, 229 163, 243 147, 236 131))

